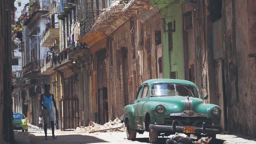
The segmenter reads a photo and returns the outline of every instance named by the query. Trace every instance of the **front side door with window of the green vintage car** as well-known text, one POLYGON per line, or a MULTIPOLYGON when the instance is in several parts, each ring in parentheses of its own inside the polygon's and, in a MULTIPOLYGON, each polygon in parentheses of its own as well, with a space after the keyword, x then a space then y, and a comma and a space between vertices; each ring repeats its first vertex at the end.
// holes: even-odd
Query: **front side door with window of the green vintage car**
POLYGON ((145 104, 145 102, 147 102, 148 100, 148 88, 149 86, 147 84, 144 84, 140 91, 139 91, 139 95, 140 97, 137 98, 137 102, 135 104, 135 109, 134 109, 134 113, 135 113, 135 125, 138 129, 143 130, 143 120, 142 120, 142 110, 143 110, 143 106, 145 104))

